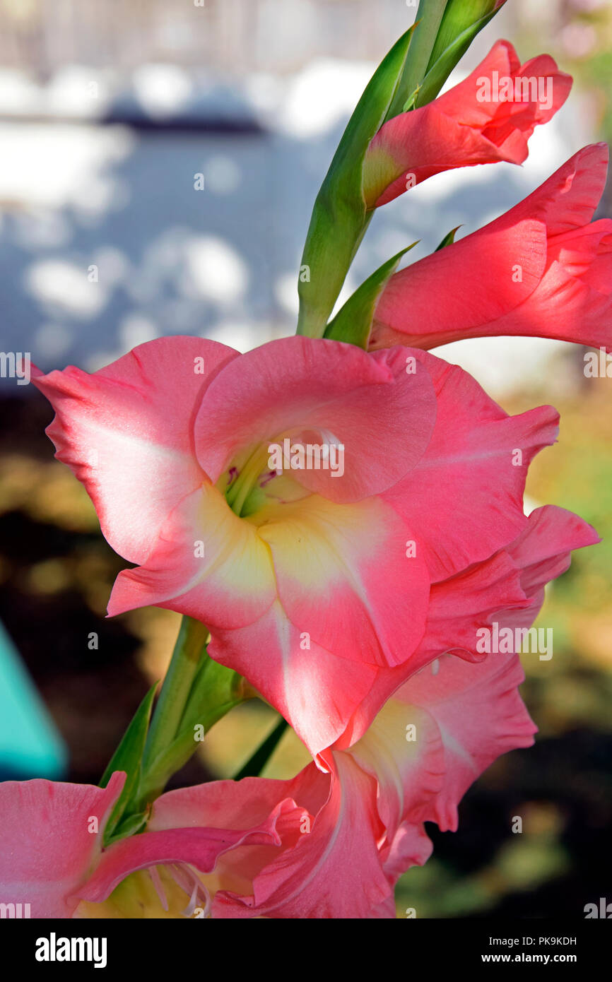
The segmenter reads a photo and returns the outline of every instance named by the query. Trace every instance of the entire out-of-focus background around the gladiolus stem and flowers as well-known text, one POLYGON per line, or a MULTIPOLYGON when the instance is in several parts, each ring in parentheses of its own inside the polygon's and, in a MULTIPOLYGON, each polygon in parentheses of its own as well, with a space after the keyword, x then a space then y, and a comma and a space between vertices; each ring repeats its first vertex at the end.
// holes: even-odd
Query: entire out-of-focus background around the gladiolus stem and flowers
MULTIPOLYGON (((241 351, 292 334, 313 199, 376 63, 414 20, 406 0, 0 0, 0 349, 49 370, 94 370, 166 334, 241 351)), ((415 239, 417 258, 463 224, 511 207, 589 141, 612 139, 612 6, 508 0, 450 83, 497 37, 523 61, 552 54, 569 103, 522 168, 432 178, 379 209, 341 301, 415 239), (418 250, 418 254, 417 253, 418 250)), ((612 215, 612 194, 601 215, 612 215)), ((535 746, 499 760, 466 795, 460 830, 397 891, 398 916, 584 917, 612 901, 612 378, 584 350, 487 339, 436 350, 511 412, 553 403, 554 448, 529 505, 595 525, 538 620, 554 657, 524 658, 535 746), (513 835, 513 816, 523 834, 513 835)), ((96 784, 179 618, 105 608, 124 567, 83 488, 53 460, 39 394, 0 379, 0 778, 96 784), (90 638, 97 634, 97 647, 90 638)), ((251 702, 208 734, 175 785, 228 776, 274 714, 251 702)), ((286 737, 268 776, 305 761, 286 737)))

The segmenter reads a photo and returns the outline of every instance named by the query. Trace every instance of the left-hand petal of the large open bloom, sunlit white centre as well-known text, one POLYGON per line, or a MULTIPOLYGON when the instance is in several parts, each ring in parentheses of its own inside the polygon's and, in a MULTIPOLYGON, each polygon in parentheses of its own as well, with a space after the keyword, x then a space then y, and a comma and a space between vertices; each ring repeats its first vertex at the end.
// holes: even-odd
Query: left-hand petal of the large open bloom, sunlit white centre
POLYGON ((238 352, 172 337, 139 345, 88 375, 79 368, 32 374, 56 411, 47 434, 83 482, 104 536, 143 562, 166 517, 202 480, 193 420, 202 392, 238 352))

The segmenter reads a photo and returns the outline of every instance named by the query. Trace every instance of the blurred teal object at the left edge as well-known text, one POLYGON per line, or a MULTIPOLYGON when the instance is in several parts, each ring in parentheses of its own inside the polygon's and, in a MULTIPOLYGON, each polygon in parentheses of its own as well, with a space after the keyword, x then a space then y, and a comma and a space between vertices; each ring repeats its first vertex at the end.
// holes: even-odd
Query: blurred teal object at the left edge
POLYGON ((61 778, 67 762, 66 745, 0 624, 0 781, 61 778))

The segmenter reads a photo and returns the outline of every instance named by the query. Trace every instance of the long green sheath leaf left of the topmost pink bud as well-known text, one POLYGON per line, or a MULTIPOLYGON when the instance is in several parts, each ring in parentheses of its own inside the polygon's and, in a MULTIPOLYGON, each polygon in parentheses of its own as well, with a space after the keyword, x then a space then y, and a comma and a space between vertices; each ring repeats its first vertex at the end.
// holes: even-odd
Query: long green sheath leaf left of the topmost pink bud
POLYGON ((301 261, 298 333, 323 336, 371 213, 362 194, 363 158, 384 122, 402 78, 413 27, 393 45, 365 87, 320 191, 301 261))

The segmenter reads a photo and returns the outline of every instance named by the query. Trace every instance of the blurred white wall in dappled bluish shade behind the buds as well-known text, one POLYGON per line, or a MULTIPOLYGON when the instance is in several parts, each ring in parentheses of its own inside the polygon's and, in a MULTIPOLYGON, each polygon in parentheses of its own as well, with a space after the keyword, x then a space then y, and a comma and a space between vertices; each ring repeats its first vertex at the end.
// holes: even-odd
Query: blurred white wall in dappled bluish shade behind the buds
MULTIPOLYGON (((376 61, 415 9, 5 0, 0 348, 30 351, 45 369, 94 368, 161 334, 245 350, 293 333, 314 196, 376 61), (136 125, 100 125, 109 114, 136 125)), ((498 36, 514 36, 521 10, 507 4, 451 82, 498 36)), ((520 49, 524 60, 536 53, 520 49)), ((467 234, 511 207, 593 132, 577 93, 536 131, 523 168, 440 175, 380 209, 342 299, 403 246, 421 241, 415 261, 450 228, 467 234)), ((438 353, 503 395, 560 347, 491 339, 438 353)))

